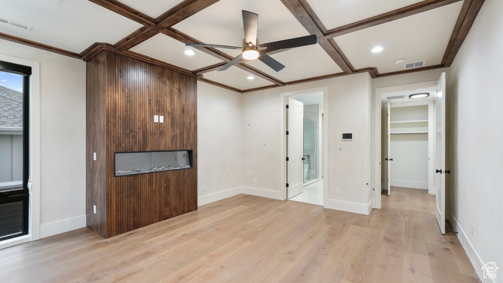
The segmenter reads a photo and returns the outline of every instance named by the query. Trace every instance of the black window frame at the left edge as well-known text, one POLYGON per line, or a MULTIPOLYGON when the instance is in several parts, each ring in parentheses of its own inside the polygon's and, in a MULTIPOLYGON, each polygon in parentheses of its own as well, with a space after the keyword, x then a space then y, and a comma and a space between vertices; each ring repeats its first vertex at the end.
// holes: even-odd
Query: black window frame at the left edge
POLYGON ((23 232, 7 237, 0 237, 0 241, 29 234, 30 219, 30 66, 0 60, 0 71, 23 76, 23 185, 19 188, 0 191, 0 204, 23 201, 23 232))

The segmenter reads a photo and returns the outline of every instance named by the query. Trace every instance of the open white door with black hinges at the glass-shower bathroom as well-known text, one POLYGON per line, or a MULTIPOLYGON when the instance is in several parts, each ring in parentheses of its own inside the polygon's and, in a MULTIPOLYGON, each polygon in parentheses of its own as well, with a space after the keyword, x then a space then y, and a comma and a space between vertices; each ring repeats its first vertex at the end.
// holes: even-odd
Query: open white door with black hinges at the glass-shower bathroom
POLYGON ((304 170, 302 157, 304 155, 304 104, 293 98, 288 98, 287 124, 287 198, 302 192, 304 185, 304 170))

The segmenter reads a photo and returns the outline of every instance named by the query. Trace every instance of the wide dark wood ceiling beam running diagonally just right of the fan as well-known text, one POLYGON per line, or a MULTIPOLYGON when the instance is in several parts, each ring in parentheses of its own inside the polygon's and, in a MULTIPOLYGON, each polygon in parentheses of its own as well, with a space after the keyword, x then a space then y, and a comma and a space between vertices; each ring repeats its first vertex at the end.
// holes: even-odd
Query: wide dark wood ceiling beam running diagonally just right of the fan
MULTIPOLYGON (((323 30, 324 27, 319 27, 316 20, 313 19, 314 11, 307 5, 307 2, 302 0, 281 0, 285 7, 297 18, 302 26, 310 34, 315 34, 318 37, 318 44, 325 50, 325 52, 341 67, 343 72, 352 74, 354 67, 347 60, 344 53, 335 41, 328 41, 325 39, 323 30), (301 3, 302 2, 302 3, 301 3)), ((316 17, 317 19, 317 17, 316 17)))

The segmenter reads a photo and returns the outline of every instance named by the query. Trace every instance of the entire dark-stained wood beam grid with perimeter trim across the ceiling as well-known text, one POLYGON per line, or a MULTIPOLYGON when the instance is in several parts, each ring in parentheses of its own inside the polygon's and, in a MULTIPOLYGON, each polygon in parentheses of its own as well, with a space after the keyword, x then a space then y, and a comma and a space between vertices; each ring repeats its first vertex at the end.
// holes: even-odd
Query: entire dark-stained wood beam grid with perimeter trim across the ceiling
MULTIPOLYGON (((451 38, 449 40, 449 44, 445 51, 444 57, 442 59, 441 64, 427 66, 422 68, 414 68, 408 70, 400 70, 398 72, 391 72, 385 74, 379 74, 376 67, 368 67, 362 69, 355 69, 351 62, 348 60, 344 52, 339 48, 336 41, 333 40, 334 37, 355 32, 358 30, 362 30, 365 28, 373 27, 376 25, 380 25, 383 23, 391 22, 394 20, 398 20, 404 17, 408 17, 411 15, 415 15, 418 13, 422 13, 425 11, 429 11, 435 8, 439 8, 445 5, 449 5, 452 3, 459 2, 461 0, 425 0, 407 7, 403 7, 391 12, 387 12, 378 16, 374 16, 365 20, 361 20, 355 23, 351 23, 348 25, 344 25, 338 28, 327 30, 323 23, 316 16, 316 13, 311 9, 306 0, 281 0, 287 9, 297 18, 297 20, 302 24, 302 26, 310 33, 316 34, 318 37, 318 44, 327 52, 327 54, 341 67, 344 73, 337 74, 329 74, 314 78, 307 78, 302 80, 297 80, 293 82, 282 82, 260 70, 253 68, 247 64, 241 63, 236 66, 244 69, 246 72, 254 74, 260 78, 270 81, 273 85, 265 86, 261 88, 254 88, 248 90, 239 90, 233 87, 229 87, 217 82, 212 82, 210 80, 202 78, 202 74, 211 72, 224 65, 226 62, 232 59, 231 56, 215 49, 215 48, 198 48, 199 50, 210 54, 216 58, 222 60, 222 63, 214 64, 211 66, 207 66, 201 69, 197 69, 194 71, 175 66, 170 63, 166 63, 164 61, 151 58, 149 56, 139 54, 128 49, 140 44, 141 42, 157 35, 158 33, 162 33, 164 35, 175 38, 184 43, 203 43, 200 42, 186 34, 183 34, 180 31, 177 31, 172 28, 175 24, 189 18, 190 16, 204 10, 205 8, 213 5, 218 2, 218 0, 185 0, 177 6, 173 7, 169 11, 166 11, 162 15, 157 18, 151 18, 127 5, 122 4, 117 0, 89 0, 97 5, 100 5, 108 10, 111 10, 119 15, 127 17, 133 21, 136 21, 143 25, 143 27, 134 31, 130 35, 121 39, 115 44, 96 42, 83 50, 80 53, 74 53, 71 51, 63 50, 60 48, 52 47, 46 44, 34 42, 31 40, 23 39, 20 37, 12 36, 5 33, 0 33, 0 38, 21 43, 24 45, 32 46, 35 48, 51 51, 54 53, 66 55, 73 58, 88 60, 100 53, 103 50, 111 50, 120 54, 128 55, 143 61, 151 62, 156 65, 164 66, 166 68, 170 68, 173 70, 177 70, 178 72, 184 74, 190 74, 192 76, 198 77, 200 81, 210 83, 215 86, 219 86, 222 88, 226 88, 235 92, 245 93, 269 88, 275 88, 285 85, 293 85, 300 84, 305 82, 312 82, 317 80, 324 80, 328 78, 346 76, 355 73, 364 73, 368 72, 372 78, 379 77, 387 77, 394 76, 406 73, 414 73, 420 72, 428 69, 436 69, 442 67, 449 67, 452 64, 452 61, 456 57, 459 48, 461 47, 464 39, 466 38, 473 22, 475 21, 478 12, 480 11, 484 0, 465 0, 463 3, 463 7, 461 9, 460 15, 456 22, 455 28, 452 32, 451 38)), ((267 52, 267 51, 266 51, 267 52)), ((270 54, 274 54, 278 51, 268 52, 270 54)))

